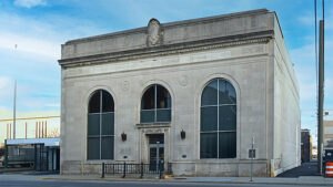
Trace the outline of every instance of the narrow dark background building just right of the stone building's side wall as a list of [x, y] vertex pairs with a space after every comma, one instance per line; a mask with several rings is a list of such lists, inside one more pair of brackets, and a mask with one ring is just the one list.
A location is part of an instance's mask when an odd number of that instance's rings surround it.
[[301, 160], [309, 163], [312, 159], [312, 137], [310, 129], [301, 129]]

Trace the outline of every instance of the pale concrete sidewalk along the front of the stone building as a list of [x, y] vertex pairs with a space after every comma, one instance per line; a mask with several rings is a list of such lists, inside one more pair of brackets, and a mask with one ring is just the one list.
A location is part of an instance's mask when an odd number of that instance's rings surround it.
[[150, 178], [128, 177], [121, 178], [120, 176], [101, 178], [93, 175], [52, 175], [40, 177], [39, 179], [51, 180], [100, 180], [100, 181], [157, 181], [157, 183], [221, 183], [221, 184], [274, 184], [274, 185], [300, 185], [300, 186], [333, 186], [333, 178], [324, 178], [321, 176], [306, 176], [299, 178], [264, 178], [255, 177], [250, 181], [249, 177], [174, 177], [169, 179], [159, 179], [158, 176]]

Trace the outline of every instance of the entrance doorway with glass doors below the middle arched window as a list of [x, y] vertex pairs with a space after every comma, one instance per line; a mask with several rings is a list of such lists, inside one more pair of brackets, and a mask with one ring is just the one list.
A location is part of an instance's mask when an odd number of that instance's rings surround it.
[[149, 135], [149, 169], [151, 172], [163, 170], [164, 165], [164, 135]]

